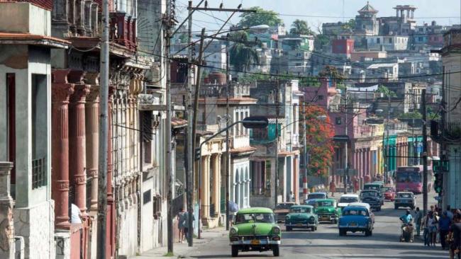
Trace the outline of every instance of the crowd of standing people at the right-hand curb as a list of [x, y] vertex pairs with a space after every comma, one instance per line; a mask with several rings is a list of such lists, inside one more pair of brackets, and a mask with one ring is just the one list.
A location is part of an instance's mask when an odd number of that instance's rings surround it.
[[421, 235], [423, 229], [424, 246], [435, 246], [438, 240], [443, 250], [450, 250], [450, 258], [461, 258], [461, 212], [457, 209], [452, 212], [450, 206], [443, 211], [437, 205], [431, 206], [426, 215], [416, 208], [414, 222], [416, 236]]

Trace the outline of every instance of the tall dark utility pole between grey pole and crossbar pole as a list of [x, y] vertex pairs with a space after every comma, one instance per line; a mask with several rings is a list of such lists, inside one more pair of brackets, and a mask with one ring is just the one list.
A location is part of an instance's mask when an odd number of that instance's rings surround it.
[[168, 193], [167, 193], [167, 251], [168, 253], [173, 253], [173, 174], [172, 174], [172, 143], [171, 143], [171, 113], [172, 113], [172, 103], [171, 103], [171, 60], [170, 60], [170, 44], [171, 44], [171, 28], [174, 24], [174, 16], [172, 13], [174, 12], [173, 8], [173, 1], [167, 1], [167, 15], [165, 17], [165, 24], [166, 24], [166, 33], [165, 33], [165, 61], [167, 65], [165, 69], [167, 69], [167, 88], [165, 89], [166, 95], [166, 113], [167, 113], [167, 120], [166, 120], [166, 138], [165, 142], [167, 143], [167, 156], [165, 157], [165, 172], [167, 173], [167, 183], [168, 183]]

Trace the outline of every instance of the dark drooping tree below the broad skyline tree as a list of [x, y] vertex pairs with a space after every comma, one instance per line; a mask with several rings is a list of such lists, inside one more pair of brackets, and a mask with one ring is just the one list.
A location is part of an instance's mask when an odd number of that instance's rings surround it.
[[258, 64], [260, 62], [260, 56], [254, 47], [245, 45], [248, 41], [248, 34], [244, 31], [238, 31], [230, 34], [230, 40], [234, 40], [235, 43], [230, 47], [229, 50], [229, 62], [238, 71], [247, 71], [248, 67], [252, 64]]

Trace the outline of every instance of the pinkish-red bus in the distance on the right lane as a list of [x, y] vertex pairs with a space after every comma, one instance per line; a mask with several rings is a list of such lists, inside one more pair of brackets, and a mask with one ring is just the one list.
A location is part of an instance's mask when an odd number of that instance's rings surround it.
[[[429, 175], [428, 172], [428, 183], [431, 183]], [[423, 166], [399, 166], [395, 174], [395, 185], [397, 192], [422, 193]]]

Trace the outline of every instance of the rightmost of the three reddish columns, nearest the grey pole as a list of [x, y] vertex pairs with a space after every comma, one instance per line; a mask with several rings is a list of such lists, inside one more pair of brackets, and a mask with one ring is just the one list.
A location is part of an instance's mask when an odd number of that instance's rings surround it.
[[[97, 76], [97, 74], [95, 75]], [[96, 79], [97, 80], [97, 79]], [[94, 81], [85, 103], [85, 127], [87, 144], [87, 177], [91, 178], [90, 211], [98, 210], [99, 166], [99, 86]]]

